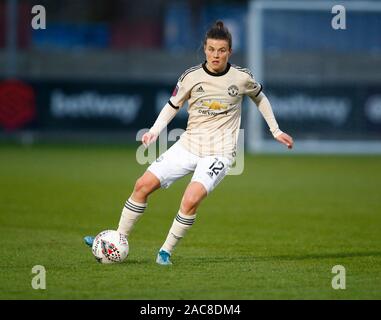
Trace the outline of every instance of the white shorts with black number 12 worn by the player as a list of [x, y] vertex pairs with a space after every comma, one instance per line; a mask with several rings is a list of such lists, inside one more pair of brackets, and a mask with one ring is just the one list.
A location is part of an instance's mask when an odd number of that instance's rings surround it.
[[226, 176], [231, 160], [222, 156], [199, 157], [186, 150], [178, 141], [147, 170], [159, 180], [162, 188], [168, 188], [177, 179], [194, 172], [192, 181], [200, 182], [210, 193]]

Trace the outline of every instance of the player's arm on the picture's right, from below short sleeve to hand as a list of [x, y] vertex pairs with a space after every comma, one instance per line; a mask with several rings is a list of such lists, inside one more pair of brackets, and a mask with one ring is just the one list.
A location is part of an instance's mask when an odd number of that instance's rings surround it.
[[270, 131], [273, 137], [278, 140], [280, 143], [283, 143], [287, 148], [292, 149], [294, 145], [294, 140], [290, 135], [281, 131], [279, 125], [275, 119], [273, 109], [271, 107], [269, 99], [263, 92], [260, 92], [256, 96], [251, 96], [252, 100], [258, 107], [258, 110], [261, 112], [263, 118], [265, 119], [267, 125], [270, 128]]

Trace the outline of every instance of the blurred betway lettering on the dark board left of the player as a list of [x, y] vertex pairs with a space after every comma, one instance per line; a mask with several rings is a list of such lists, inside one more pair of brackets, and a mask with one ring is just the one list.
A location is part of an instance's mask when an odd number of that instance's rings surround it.
[[68, 95], [56, 90], [51, 96], [50, 109], [57, 118], [111, 117], [124, 123], [130, 123], [135, 120], [141, 104], [139, 96], [100, 95], [89, 91]]

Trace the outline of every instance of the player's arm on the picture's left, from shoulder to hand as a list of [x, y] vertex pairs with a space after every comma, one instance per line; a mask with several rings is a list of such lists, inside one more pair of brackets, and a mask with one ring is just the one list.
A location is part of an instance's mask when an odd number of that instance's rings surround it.
[[179, 78], [171, 98], [161, 110], [153, 126], [143, 135], [142, 143], [144, 146], [147, 147], [156, 141], [160, 132], [172, 121], [184, 102], [189, 99], [192, 87], [188, 81], [189, 77], [186, 78], [184, 74]]

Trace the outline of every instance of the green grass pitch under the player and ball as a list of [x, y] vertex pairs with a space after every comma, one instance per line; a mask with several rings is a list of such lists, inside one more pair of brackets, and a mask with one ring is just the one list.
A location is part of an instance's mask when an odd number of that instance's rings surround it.
[[0, 299], [381, 299], [381, 157], [246, 155], [159, 266], [186, 177], [151, 196], [124, 263], [98, 264], [82, 237], [116, 228], [144, 170], [133, 148], [1, 145]]

